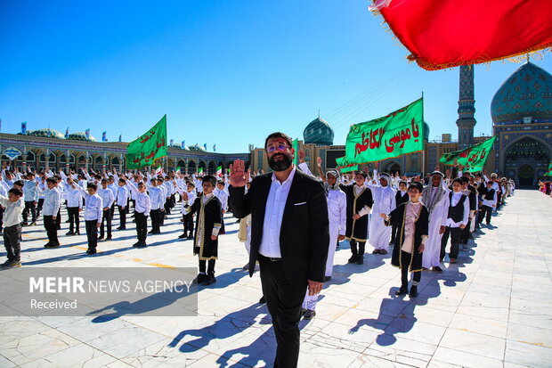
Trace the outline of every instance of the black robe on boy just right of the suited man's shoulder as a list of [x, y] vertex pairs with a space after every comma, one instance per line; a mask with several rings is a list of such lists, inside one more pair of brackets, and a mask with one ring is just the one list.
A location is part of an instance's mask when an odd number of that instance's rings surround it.
[[348, 241], [367, 241], [369, 214], [364, 215], [358, 220], [353, 220], [353, 215], [358, 213], [364, 206], [372, 208], [374, 205], [372, 191], [365, 186], [361, 194], [357, 196], [354, 192], [355, 185], [339, 185], [339, 187], [347, 196], [347, 228], [345, 238]]

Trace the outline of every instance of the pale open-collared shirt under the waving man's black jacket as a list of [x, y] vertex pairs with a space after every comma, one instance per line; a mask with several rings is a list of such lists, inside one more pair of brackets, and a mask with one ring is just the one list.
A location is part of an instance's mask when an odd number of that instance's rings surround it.
[[259, 253], [264, 257], [281, 258], [281, 219], [284, 216], [289, 188], [291, 188], [295, 175], [296, 168], [294, 167], [289, 173], [288, 179], [280, 184], [276, 175], [272, 173], [271, 190], [268, 192], [264, 211], [263, 240], [259, 248]]

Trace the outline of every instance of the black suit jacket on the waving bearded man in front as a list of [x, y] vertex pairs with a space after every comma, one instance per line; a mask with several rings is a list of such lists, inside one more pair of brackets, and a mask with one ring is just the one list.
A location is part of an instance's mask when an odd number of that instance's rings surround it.
[[[272, 173], [256, 176], [245, 188], [229, 187], [234, 216], [251, 214], [249, 275], [253, 275], [263, 240], [264, 211]], [[296, 169], [289, 188], [280, 229], [280, 252], [288, 282], [324, 282], [329, 249], [328, 202], [322, 182]]]

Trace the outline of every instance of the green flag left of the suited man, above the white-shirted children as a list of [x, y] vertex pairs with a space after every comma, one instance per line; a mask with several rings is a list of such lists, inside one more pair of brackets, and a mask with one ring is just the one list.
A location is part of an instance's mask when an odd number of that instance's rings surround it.
[[126, 168], [153, 165], [155, 159], [166, 156], [166, 115], [126, 147]]

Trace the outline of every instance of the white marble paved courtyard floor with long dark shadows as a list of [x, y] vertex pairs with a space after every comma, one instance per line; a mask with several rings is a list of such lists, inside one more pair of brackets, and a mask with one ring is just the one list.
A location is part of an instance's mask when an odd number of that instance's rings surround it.
[[[397, 269], [369, 254], [348, 265], [348, 244], [336, 253], [334, 277], [316, 317], [302, 321], [300, 367], [548, 367], [552, 361], [552, 199], [518, 190], [492, 226], [477, 233], [459, 264], [424, 272], [418, 298], [397, 298]], [[114, 221], [118, 225], [118, 220]], [[42, 225], [42, 222], [39, 222]], [[199, 287], [199, 315], [0, 317], [0, 367], [263, 367], [275, 339], [258, 273], [249, 278], [238, 225], [226, 218], [217, 282]], [[134, 249], [134, 225], [84, 254], [85, 235], [61, 237], [44, 249], [42, 226], [23, 233], [24, 267], [196, 266], [191, 241], [181, 241], [177, 214], [150, 247]], [[114, 226], [115, 227], [115, 226]], [[67, 232], [63, 224], [61, 233]], [[84, 232], [84, 229], [82, 230]], [[120, 239], [118, 239], [120, 238]], [[1, 256], [4, 258], [5, 253]]]

